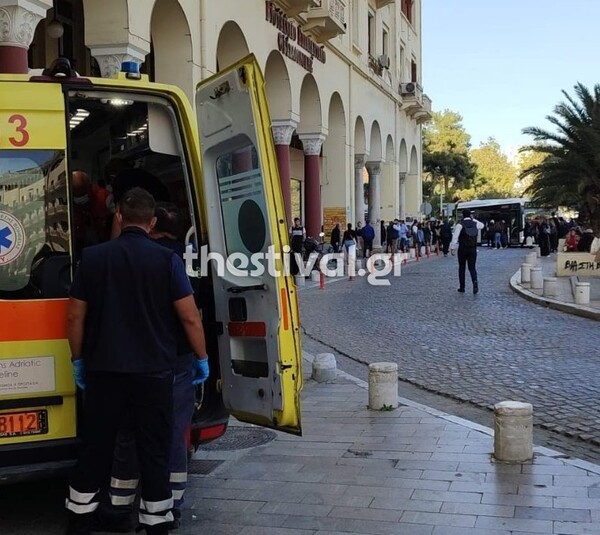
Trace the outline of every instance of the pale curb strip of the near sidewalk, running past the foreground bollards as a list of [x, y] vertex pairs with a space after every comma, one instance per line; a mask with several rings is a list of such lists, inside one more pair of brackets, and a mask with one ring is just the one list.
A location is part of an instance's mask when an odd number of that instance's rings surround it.
[[[303, 350], [302, 358], [306, 362], [312, 364], [312, 361], [314, 360], [315, 357], [311, 353], [307, 353], [306, 351]], [[344, 377], [346, 380], [354, 383], [359, 388], [362, 388], [364, 390], [369, 389], [369, 384], [366, 381], [359, 379], [358, 377], [354, 377], [353, 375], [350, 375], [349, 373], [346, 373], [339, 369], [337, 370], [337, 374], [341, 377]], [[410, 399], [398, 396], [398, 403], [400, 403], [401, 405], [405, 405], [407, 407], [412, 407], [414, 409], [423, 411], [431, 416], [440, 418], [442, 420], [446, 420], [453, 424], [461, 425], [472, 431], [478, 431], [480, 433], [483, 433], [483, 434], [491, 436], [491, 437], [494, 436], [494, 430], [490, 427], [486, 427], [484, 425], [481, 425], [481, 424], [478, 424], [475, 422], [471, 422], [470, 420], [465, 420], [464, 418], [460, 418], [459, 416], [453, 416], [452, 414], [442, 412], [438, 409], [434, 409], [433, 407], [428, 407], [427, 405], [417, 403], [416, 401], [412, 401]], [[535, 417], [535, 414], [534, 414], [534, 417]], [[567, 465], [575, 466], [576, 468], [581, 468], [582, 470], [587, 470], [588, 472], [591, 472], [593, 474], [600, 475], [600, 465], [598, 465], [598, 464], [594, 464], [589, 461], [584, 461], [583, 459], [576, 459], [576, 458], [565, 459], [564, 453], [561, 453], [559, 451], [556, 451], [556, 450], [553, 450], [550, 448], [546, 448], [545, 446], [535, 446], [534, 445], [533, 451], [535, 454], [540, 455], [542, 457], [550, 457], [553, 459], [557, 459]], [[535, 464], [535, 456], [534, 456], [532, 462]], [[530, 464], [530, 463], [524, 463], [524, 464]]]

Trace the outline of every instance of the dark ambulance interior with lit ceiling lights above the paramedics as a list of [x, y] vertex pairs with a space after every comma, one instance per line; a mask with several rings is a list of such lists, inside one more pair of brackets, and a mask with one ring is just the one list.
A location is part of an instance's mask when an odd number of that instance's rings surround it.
[[[115, 237], [115, 207], [136, 186], [179, 208], [184, 225], [176, 239], [183, 244], [190, 229], [197, 228], [195, 192], [170, 101], [138, 93], [72, 91], [68, 112], [70, 170], [85, 173], [89, 188], [87, 201], [74, 208], [76, 256], [83, 247]], [[75, 178], [73, 174], [74, 200], [83, 193]], [[77, 211], [87, 212], [87, 218], [78, 217]]]

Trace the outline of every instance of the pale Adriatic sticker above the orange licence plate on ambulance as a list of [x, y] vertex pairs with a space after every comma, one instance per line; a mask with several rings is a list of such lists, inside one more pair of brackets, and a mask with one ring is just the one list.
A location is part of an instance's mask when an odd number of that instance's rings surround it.
[[0, 360], [0, 394], [34, 394], [55, 388], [54, 357]]

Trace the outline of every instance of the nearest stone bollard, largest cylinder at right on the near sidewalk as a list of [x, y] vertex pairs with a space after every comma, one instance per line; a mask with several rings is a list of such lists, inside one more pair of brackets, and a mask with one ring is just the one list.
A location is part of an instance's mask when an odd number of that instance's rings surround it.
[[533, 458], [533, 406], [519, 401], [494, 405], [494, 457], [522, 463]]

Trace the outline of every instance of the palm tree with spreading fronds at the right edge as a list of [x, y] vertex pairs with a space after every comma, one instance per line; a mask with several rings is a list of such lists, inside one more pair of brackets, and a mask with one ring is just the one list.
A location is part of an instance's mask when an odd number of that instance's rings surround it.
[[531, 176], [526, 193], [542, 206], [578, 208], [580, 218], [600, 230], [600, 85], [590, 92], [583, 84], [574, 87], [576, 98], [563, 91], [567, 102], [554, 108], [546, 119], [556, 132], [527, 127], [523, 133], [535, 143], [521, 151], [542, 154], [541, 163], [524, 169]]

